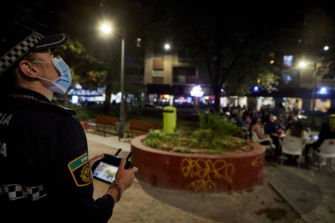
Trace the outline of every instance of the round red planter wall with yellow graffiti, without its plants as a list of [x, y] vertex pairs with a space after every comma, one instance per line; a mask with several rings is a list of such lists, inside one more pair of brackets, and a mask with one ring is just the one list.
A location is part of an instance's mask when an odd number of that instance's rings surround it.
[[[264, 175], [264, 146], [247, 141], [249, 152], [198, 155], [168, 152], [145, 146], [141, 135], [131, 140], [136, 177], [153, 186], [205, 193], [240, 191], [259, 184]], [[244, 140], [241, 138], [236, 138]]]

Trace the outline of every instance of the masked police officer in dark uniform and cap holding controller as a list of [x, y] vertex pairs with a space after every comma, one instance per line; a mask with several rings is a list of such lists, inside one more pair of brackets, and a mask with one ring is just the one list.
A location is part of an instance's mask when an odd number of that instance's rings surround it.
[[118, 180], [94, 201], [90, 166], [103, 154], [88, 160], [76, 112], [51, 103], [71, 85], [69, 67], [51, 53], [67, 34], [44, 37], [16, 22], [1, 29], [1, 221], [107, 222], [137, 168], [124, 170], [123, 158]]

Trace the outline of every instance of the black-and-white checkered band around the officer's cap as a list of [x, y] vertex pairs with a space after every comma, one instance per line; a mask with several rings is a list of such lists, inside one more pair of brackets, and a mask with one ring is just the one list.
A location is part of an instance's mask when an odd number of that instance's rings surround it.
[[26, 52], [31, 50], [37, 43], [41, 41], [43, 35], [38, 32], [32, 32], [28, 38], [24, 39], [18, 45], [14, 46], [11, 50], [5, 53], [0, 58], [0, 75], [7, 70], [12, 64], [22, 57]]

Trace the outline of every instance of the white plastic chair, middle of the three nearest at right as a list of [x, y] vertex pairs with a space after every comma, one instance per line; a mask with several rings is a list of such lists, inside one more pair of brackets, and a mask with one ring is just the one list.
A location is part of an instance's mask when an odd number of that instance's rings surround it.
[[[304, 140], [300, 137], [286, 135], [282, 141], [279, 140], [279, 143], [281, 145], [281, 156], [283, 156], [283, 153], [299, 155], [298, 168], [300, 168], [301, 155], [305, 147]], [[283, 159], [281, 159], [280, 164], [283, 165]]]

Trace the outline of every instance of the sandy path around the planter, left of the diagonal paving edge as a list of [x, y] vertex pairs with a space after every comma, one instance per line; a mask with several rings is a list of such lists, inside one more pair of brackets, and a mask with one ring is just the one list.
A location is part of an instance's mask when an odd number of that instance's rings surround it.
[[[88, 132], [89, 158], [101, 154], [126, 156], [130, 139], [119, 143], [115, 136]], [[115, 205], [109, 222], [304, 222], [291, 206], [269, 185], [220, 194], [195, 194], [153, 187], [136, 180]], [[95, 199], [106, 193], [108, 184], [94, 180]]]

